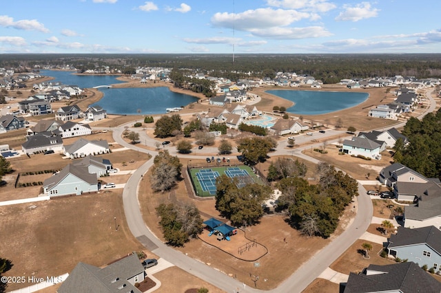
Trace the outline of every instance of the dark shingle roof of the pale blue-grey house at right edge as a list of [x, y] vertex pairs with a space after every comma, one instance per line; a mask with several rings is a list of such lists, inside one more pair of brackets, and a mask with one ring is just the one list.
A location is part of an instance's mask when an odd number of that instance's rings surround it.
[[403, 228], [398, 226], [397, 234], [391, 235], [387, 248], [412, 246], [427, 243], [433, 250], [441, 254], [441, 230], [434, 226], [422, 228]]

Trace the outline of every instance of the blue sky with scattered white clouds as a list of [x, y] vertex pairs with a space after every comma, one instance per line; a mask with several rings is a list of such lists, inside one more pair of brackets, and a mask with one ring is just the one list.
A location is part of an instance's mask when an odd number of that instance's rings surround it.
[[5, 0], [0, 54], [441, 53], [440, 11], [440, 0]]

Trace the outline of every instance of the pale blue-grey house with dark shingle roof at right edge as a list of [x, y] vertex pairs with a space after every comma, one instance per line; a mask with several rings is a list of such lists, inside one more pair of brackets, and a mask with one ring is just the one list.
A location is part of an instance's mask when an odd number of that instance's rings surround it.
[[427, 265], [436, 272], [441, 270], [441, 230], [434, 226], [409, 229], [398, 226], [387, 243], [389, 257]]

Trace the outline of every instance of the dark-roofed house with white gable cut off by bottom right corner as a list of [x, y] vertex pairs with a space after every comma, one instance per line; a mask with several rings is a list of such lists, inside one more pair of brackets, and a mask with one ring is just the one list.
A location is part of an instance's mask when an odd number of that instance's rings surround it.
[[351, 272], [343, 285], [344, 293], [441, 292], [441, 283], [413, 261], [391, 265], [371, 264], [359, 274]]

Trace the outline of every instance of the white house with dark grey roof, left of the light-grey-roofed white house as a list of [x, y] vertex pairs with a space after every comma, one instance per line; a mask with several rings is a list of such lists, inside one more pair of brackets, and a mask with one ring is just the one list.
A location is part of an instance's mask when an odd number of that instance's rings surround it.
[[26, 141], [21, 144], [21, 150], [25, 154], [37, 153], [40, 151], [54, 151], [63, 153], [63, 138], [51, 132], [41, 132], [36, 135], [27, 136]]

